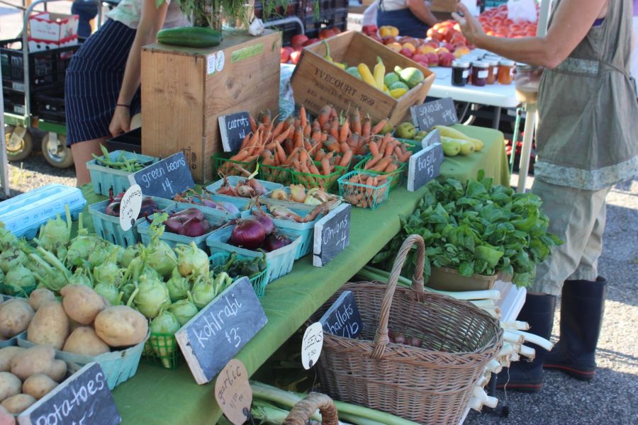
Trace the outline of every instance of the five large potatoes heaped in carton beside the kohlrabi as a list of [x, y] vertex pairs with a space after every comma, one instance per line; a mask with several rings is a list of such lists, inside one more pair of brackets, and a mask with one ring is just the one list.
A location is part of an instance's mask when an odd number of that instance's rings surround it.
[[67, 285], [60, 295], [62, 302], [47, 289], [31, 293], [28, 305], [35, 314], [27, 327], [28, 341], [69, 353], [98, 356], [111, 348], [140, 344], [146, 338], [148, 322], [137, 310], [125, 305], [111, 306], [86, 285]]

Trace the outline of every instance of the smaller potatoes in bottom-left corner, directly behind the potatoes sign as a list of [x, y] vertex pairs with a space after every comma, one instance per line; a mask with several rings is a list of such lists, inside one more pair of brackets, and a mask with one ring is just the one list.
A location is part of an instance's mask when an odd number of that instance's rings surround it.
[[[49, 346], [0, 349], [0, 424], [28, 409], [65, 379], [67, 363]], [[11, 418], [11, 419], [10, 419]]]

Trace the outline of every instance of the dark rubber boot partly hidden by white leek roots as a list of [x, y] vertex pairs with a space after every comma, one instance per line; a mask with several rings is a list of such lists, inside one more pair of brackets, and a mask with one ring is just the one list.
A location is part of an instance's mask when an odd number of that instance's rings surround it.
[[[529, 332], [549, 339], [554, 324], [554, 309], [556, 297], [554, 295], [527, 294], [517, 320], [530, 324]], [[539, 392], [543, 387], [543, 362], [548, 351], [536, 344], [525, 344], [534, 348], [536, 356], [533, 361], [521, 358], [511, 363], [510, 368], [503, 370], [496, 377], [496, 387], [520, 392]]]

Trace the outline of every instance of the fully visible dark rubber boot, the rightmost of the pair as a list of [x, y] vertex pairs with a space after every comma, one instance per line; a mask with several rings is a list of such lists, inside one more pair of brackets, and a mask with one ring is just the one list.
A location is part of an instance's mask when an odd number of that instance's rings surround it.
[[595, 351], [605, 312], [607, 280], [566, 280], [561, 297], [561, 335], [544, 367], [579, 380], [595, 375]]

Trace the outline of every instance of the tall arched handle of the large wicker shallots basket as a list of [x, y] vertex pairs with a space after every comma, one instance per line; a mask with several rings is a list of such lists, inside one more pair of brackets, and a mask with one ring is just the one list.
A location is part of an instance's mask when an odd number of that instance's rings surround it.
[[410, 234], [410, 236], [405, 238], [398, 254], [396, 254], [390, 278], [388, 278], [388, 287], [386, 288], [384, 301], [381, 303], [379, 327], [376, 328], [376, 343], [374, 344], [374, 351], [372, 352], [374, 358], [381, 358], [384, 351], [386, 351], [386, 346], [390, 342], [390, 339], [388, 339], [388, 319], [390, 317], [390, 307], [392, 307], [392, 297], [394, 296], [396, 283], [401, 274], [401, 268], [403, 268], [403, 263], [405, 263], [405, 257], [408, 256], [408, 252], [412, 249], [413, 244], [417, 246], [417, 263], [412, 276], [412, 289], [415, 291], [417, 300], [422, 301], [425, 299], [425, 289], [423, 288], [425, 242], [423, 242], [423, 238], [419, 234]]

